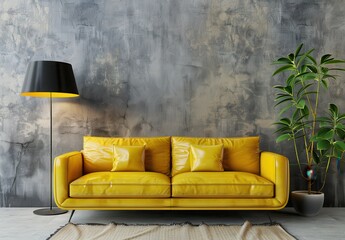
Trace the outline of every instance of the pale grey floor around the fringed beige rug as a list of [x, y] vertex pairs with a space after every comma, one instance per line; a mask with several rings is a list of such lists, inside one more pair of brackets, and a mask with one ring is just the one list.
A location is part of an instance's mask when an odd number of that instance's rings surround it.
[[[70, 214], [37, 216], [34, 208], [0, 208], [0, 239], [47, 239], [64, 226]], [[324, 208], [317, 217], [281, 211], [76, 211], [73, 223], [170, 224], [280, 223], [297, 239], [345, 239], [345, 208]]]

